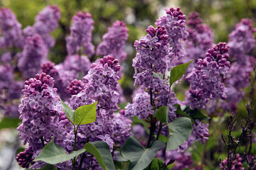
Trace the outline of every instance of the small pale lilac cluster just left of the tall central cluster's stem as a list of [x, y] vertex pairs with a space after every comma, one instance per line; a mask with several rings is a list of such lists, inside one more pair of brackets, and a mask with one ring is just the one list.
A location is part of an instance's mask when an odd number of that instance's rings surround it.
[[137, 115], [139, 119], [146, 119], [149, 114], [154, 114], [153, 108], [150, 104], [150, 96], [146, 92], [137, 94], [132, 98], [132, 104], [128, 103], [125, 108], [125, 115], [127, 117]]

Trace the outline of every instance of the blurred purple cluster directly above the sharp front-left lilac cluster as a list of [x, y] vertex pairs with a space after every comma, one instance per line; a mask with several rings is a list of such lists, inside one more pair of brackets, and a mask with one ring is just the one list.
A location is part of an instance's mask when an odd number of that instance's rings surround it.
[[26, 38], [23, 51], [18, 53], [18, 69], [26, 79], [40, 72], [43, 62], [46, 62], [48, 49], [40, 35]]

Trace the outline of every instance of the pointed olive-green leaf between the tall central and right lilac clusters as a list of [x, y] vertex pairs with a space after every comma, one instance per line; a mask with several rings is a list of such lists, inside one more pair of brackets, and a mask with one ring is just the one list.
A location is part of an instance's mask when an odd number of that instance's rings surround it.
[[171, 75], [170, 75], [170, 86], [173, 84], [175, 81], [181, 79], [181, 77], [185, 74], [186, 69], [188, 68], [188, 65], [191, 64], [193, 60], [190, 62], [187, 62], [185, 64], [180, 64], [171, 69]]

